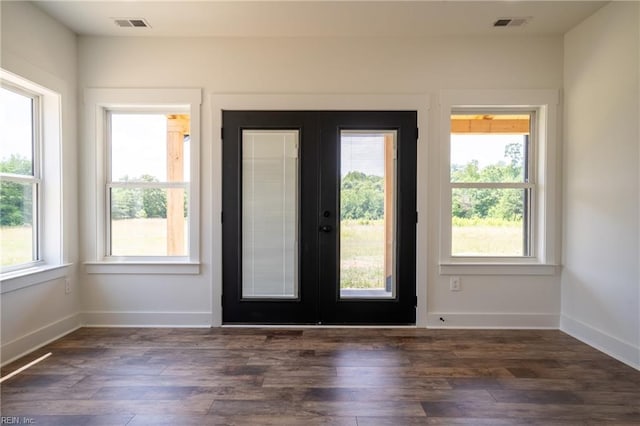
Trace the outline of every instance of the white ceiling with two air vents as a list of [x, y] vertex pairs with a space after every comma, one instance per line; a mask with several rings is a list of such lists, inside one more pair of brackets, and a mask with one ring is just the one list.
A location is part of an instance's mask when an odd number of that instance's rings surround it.
[[[602, 1], [35, 1], [74, 32], [100, 36], [305, 37], [558, 35]], [[494, 28], [504, 17], [528, 24]], [[152, 28], [120, 28], [144, 18]]]

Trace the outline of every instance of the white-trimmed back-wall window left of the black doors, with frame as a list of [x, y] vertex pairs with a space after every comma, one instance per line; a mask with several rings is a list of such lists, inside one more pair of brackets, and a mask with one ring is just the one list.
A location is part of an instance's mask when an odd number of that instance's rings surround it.
[[199, 89], [87, 90], [97, 206], [89, 273], [198, 273], [200, 102]]

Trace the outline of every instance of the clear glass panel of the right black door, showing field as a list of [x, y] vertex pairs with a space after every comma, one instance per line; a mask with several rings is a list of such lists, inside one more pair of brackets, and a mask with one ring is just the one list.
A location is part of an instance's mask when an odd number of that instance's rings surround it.
[[340, 135], [340, 298], [394, 298], [395, 131]]

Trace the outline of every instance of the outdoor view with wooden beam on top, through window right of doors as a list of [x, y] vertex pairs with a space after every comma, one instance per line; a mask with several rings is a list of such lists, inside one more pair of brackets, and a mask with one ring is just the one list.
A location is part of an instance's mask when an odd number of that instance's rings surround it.
[[530, 256], [531, 114], [451, 117], [451, 255]]

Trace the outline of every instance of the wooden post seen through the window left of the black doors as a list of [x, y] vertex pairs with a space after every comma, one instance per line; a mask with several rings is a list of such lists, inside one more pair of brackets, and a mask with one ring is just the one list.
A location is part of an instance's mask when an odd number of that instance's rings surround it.
[[[167, 182], [184, 182], [184, 136], [188, 115], [167, 116]], [[167, 189], [167, 255], [184, 256], [184, 189]]]

